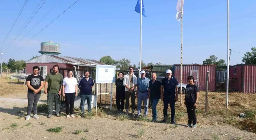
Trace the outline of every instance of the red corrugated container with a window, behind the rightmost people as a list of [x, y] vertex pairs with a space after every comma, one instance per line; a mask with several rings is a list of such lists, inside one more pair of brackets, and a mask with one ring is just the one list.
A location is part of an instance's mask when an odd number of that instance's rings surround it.
[[[173, 65], [173, 76], [181, 82], [180, 65]], [[209, 71], [209, 91], [216, 91], [216, 65], [183, 65], [183, 83], [188, 84], [187, 77], [192, 75], [195, 78], [195, 84], [200, 91], [205, 91], [206, 73]]]

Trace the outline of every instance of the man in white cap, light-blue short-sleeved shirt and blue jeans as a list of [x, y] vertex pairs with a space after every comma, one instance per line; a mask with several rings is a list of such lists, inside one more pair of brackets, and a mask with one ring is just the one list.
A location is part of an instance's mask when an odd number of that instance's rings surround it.
[[148, 98], [149, 98], [149, 79], [145, 77], [145, 71], [142, 70], [140, 72], [141, 78], [137, 81], [137, 94], [136, 97], [138, 98], [138, 116], [140, 116], [141, 112], [141, 103], [142, 100], [144, 101], [144, 116], [148, 114]]

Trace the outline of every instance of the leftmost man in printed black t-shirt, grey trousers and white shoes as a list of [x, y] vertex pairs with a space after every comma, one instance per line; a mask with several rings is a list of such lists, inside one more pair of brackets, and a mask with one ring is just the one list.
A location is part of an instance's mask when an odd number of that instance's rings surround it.
[[26, 120], [30, 119], [31, 111], [33, 110], [33, 118], [39, 119], [37, 115], [37, 102], [41, 96], [41, 89], [44, 86], [44, 78], [38, 75], [39, 67], [33, 67], [33, 74], [27, 77], [27, 87], [28, 87], [28, 107], [27, 107], [27, 117]]

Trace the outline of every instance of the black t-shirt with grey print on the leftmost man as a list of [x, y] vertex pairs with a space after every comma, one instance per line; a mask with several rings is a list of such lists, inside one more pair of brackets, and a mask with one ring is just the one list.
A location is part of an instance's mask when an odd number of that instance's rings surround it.
[[[31, 74], [27, 77], [26, 81], [30, 81], [30, 85], [34, 89], [39, 89], [39, 87], [41, 86], [41, 81], [44, 81], [44, 78], [41, 75], [34, 76], [33, 74]], [[28, 93], [34, 93], [34, 91], [28, 88]], [[41, 94], [41, 91], [39, 91], [37, 94]]]

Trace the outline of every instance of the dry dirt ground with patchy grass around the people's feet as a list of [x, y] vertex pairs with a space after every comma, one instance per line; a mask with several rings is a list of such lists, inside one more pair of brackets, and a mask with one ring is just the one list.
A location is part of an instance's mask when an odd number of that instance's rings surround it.
[[[106, 109], [98, 111], [89, 119], [79, 117], [66, 118], [65, 110], [61, 117], [46, 117], [45, 112], [38, 112], [40, 119], [25, 120], [27, 106], [27, 87], [10, 85], [6, 80], [0, 80], [0, 137], [2, 140], [27, 139], [77, 139], [77, 140], [133, 140], [133, 139], [162, 139], [162, 140], [255, 140], [256, 134], [238, 129], [235, 125], [243, 120], [237, 113], [255, 110], [255, 95], [230, 94], [230, 109], [225, 109], [224, 93], [209, 93], [210, 115], [204, 117], [205, 96], [200, 92], [200, 103], [197, 110], [198, 127], [184, 127], [187, 116], [184, 107], [176, 105], [176, 125], [167, 123], [152, 123], [152, 111], [149, 109], [148, 120], [131, 118], [122, 119], [114, 111]], [[47, 95], [42, 94], [40, 104], [46, 102]], [[163, 118], [162, 102], [158, 109], [159, 121]], [[95, 109], [92, 110], [95, 112]], [[170, 111], [170, 110], [169, 110]], [[252, 115], [251, 115], [252, 116]], [[253, 116], [252, 116], [253, 117]], [[120, 119], [121, 118], [121, 119]], [[254, 118], [255, 119], [255, 118]], [[14, 125], [17, 123], [17, 126]], [[47, 129], [63, 127], [60, 133], [48, 132]], [[82, 130], [75, 134], [76, 130]], [[88, 131], [88, 132], [87, 132]]]

